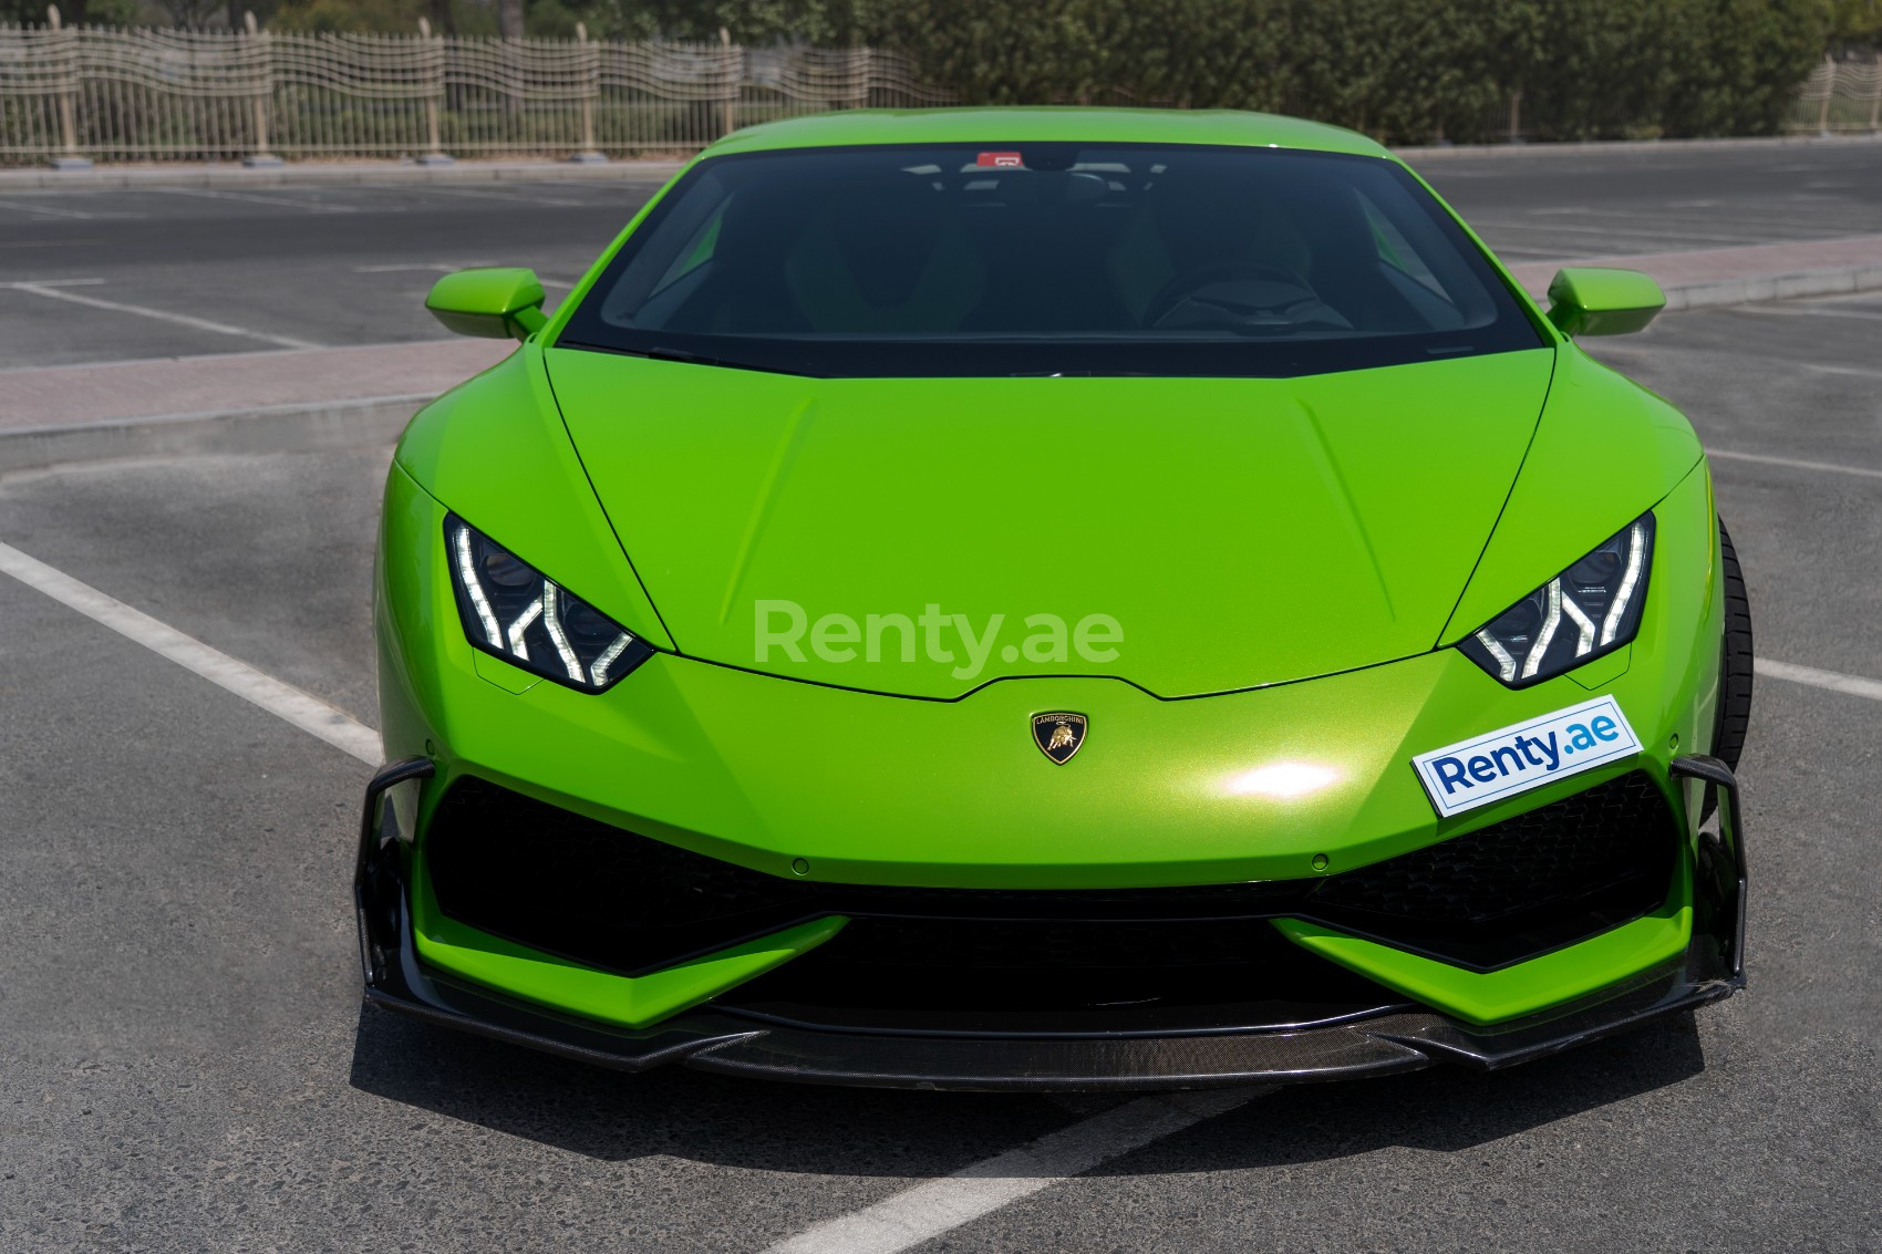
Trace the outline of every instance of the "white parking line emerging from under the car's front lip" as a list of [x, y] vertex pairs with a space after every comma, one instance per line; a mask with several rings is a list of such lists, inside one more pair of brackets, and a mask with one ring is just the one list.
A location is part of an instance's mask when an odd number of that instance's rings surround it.
[[1060, 1181], [1214, 1118], [1267, 1088], [1139, 1098], [873, 1207], [817, 1224], [766, 1254], [894, 1254], [969, 1224]]

